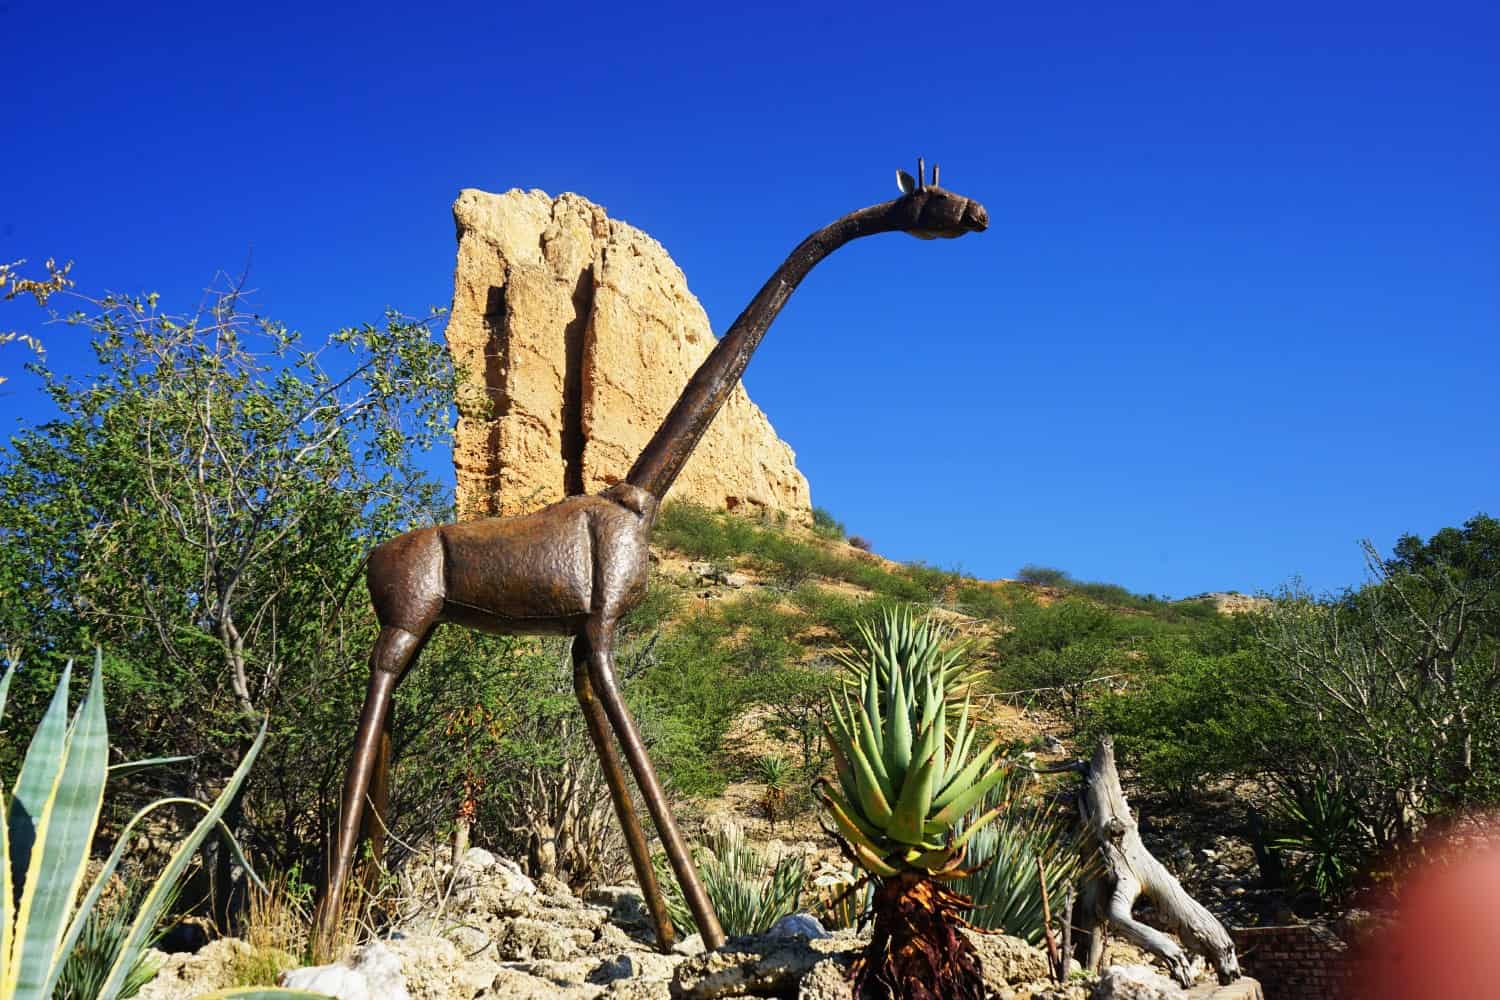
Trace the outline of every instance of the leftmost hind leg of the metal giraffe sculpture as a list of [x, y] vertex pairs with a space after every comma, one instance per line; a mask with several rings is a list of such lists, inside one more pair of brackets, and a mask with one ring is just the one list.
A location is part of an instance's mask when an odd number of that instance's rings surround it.
[[405, 628], [387, 625], [380, 630], [380, 637], [370, 651], [370, 682], [364, 691], [364, 708], [360, 711], [354, 756], [344, 780], [334, 853], [328, 864], [322, 903], [314, 919], [314, 940], [324, 952], [332, 945], [333, 931], [342, 916], [344, 889], [354, 867], [354, 852], [358, 847], [363, 828], [364, 796], [370, 789], [376, 765], [381, 763], [381, 744], [390, 718], [390, 699], [424, 640], [424, 634], [418, 636]]

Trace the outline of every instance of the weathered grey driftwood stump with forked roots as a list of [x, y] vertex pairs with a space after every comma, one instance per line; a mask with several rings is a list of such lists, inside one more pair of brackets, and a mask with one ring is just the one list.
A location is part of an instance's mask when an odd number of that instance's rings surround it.
[[1089, 934], [1088, 967], [1098, 970], [1104, 952], [1101, 931], [1108, 922], [1128, 940], [1167, 963], [1173, 978], [1184, 987], [1191, 984], [1188, 954], [1156, 928], [1131, 916], [1136, 900], [1144, 895], [1182, 943], [1214, 964], [1221, 984], [1239, 979], [1239, 961], [1228, 931], [1142, 844], [1136, 817], [1120, 789], [1119, 771], [1114, 769], [1114, 744], [1108, 736], [1100, 741], [1084, 772], [1078, 811], [1084, 828], [1100, 846], [1106, 867], [1101, 879], [1084, 886], [1078, 907]]

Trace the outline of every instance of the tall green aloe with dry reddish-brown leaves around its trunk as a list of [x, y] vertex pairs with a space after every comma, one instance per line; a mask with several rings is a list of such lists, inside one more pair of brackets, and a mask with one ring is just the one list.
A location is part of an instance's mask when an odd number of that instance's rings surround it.
[[1006, 763], [998, 739], [975, 750], [969, 697], [952, 699], [972, 675], [942, 640], [930, 621], [885, 615], [864, 631], [866, 649], [844, 658], [852, 684], [831, 699], [838, 787], [820, 781], [818, 795], [876, 885], [874, 936], [854, 973], [862, 997], [984, 997], [978, 954], [960, 933], [970, 901], [948, 883], [970, 874], [968, 841], [1005, 808], [958, 832]]

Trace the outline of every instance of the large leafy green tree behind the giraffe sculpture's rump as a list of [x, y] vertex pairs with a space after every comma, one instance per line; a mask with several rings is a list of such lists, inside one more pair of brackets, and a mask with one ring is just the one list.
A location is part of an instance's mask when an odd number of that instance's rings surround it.
[[[272, 753], [230, 819], [272, 865], [314, 864], [374, 639], [340, 594], [372, 541], [447, 514], [418, 463], [450, 424], [435, 318], [318, 343], [237, 288], [192, 315], [156, 295], [74, 301], [98, 364], [34, 366], [57, 415], [0, 448], [0, 646], [24, 643], [42, 681], [15, 693], [16, 717], [34, 724], [70, 654], [111, 651], [116, 748], [198, 762], [122, 787], [117, 823], [226, 778], [268, 715]], [[440, 636], [426, 658], [453, 648]], [[430, 702], [423, 684], [400, 699]], [[16, 754], [0, 739], [0, 768]]]

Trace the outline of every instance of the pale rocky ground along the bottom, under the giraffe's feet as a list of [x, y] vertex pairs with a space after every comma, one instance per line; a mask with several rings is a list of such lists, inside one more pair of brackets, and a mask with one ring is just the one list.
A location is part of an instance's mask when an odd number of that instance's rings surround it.
[[[406, 907], [393, 931], [344, 963], [298, 969], [282, 984], [344, 1000], [852, 1000], [849, 966], [867, 940], [855, 931], [828, 933], [798, 915], [716, 952], [705, 954], [694, 936], [660, 954], [634, 888], [603, 888], [579, 900], [564, 885], [536, 883], [513, 862], [480, 849], [468, 852], [456, 876], [447, 864], [429, 861], [408, 865], [402, 880], [408, 894], [444, 889]], [[1179, 990], [1128, 946], [1113, 946], [1104, 976], [1074, 972], [1056, 984], [1041, 949], [999, 934], [970, 934], [970, 940], [998, 999], [1214, 994], [1212, 987]], [[220, 939], [195, 954], [162, 955], [160, 973], [140, 997], [188, 1000], [234, 985], [250, 951], [242, 940]], [[1226, 996], [1258, 991], [1246, 985]]]

